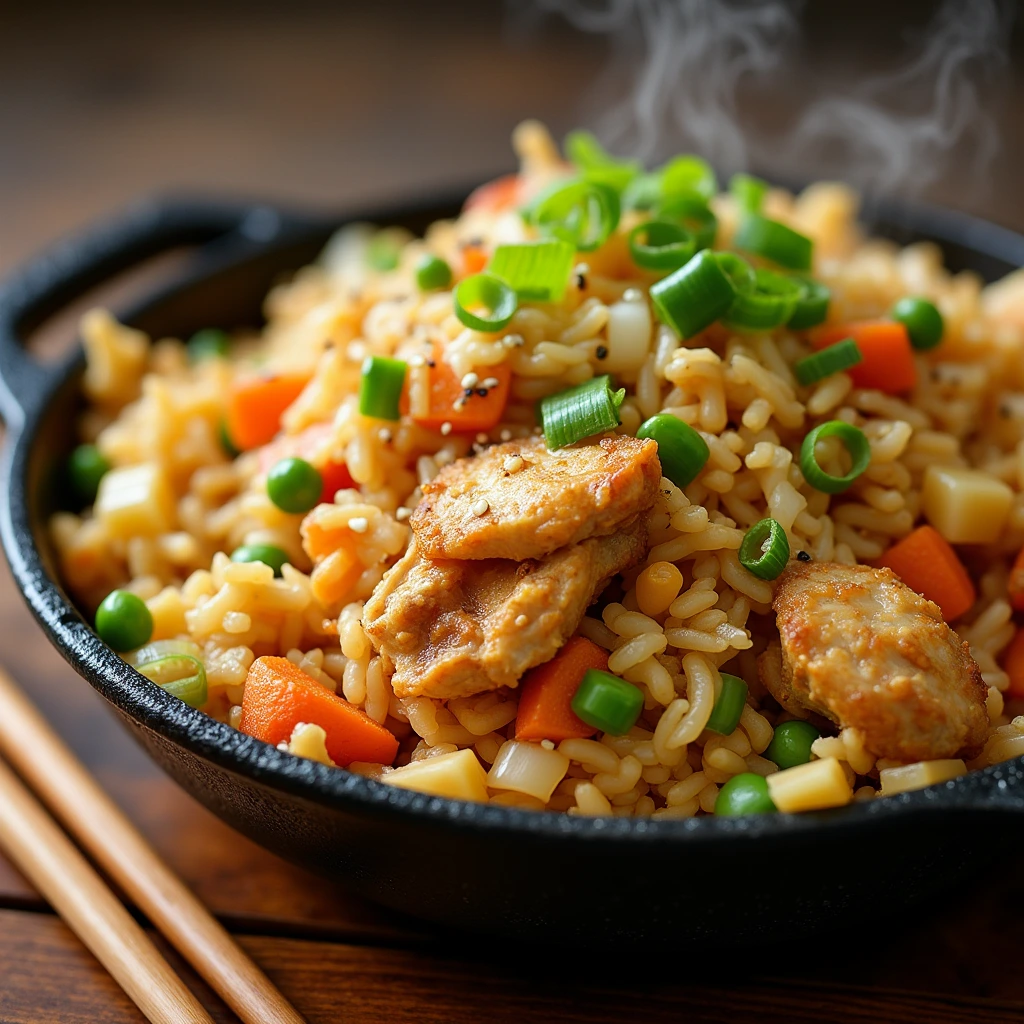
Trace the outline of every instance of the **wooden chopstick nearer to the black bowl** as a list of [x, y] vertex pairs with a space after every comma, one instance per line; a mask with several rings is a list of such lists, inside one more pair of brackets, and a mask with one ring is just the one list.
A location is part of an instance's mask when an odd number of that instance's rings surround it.
[[2, 669], [0, 754], [245, 1024], [305, 1024]]

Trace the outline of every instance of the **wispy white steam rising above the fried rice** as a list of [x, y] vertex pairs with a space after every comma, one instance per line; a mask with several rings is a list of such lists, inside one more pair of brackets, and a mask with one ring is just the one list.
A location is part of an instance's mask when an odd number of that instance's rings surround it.
[[[522, 0], [509, 0], [511, 9]], [[527, 5], [528, 6], [528, 5]], [[816, 97], [788, 125], [743, 118], [744, 90], [778, 86], [800, 46], [803, 0], [532, 0], [608, 39], [592, 127], [616, 153], [652, 162], [680, 150], [721, 171], [843, 177], [876, 194], [912, 191], [947, 159], [984, 183], [998, 133], [984, 85], [1008, 65], [1012, 0], [944, 0], [902, 66]], [[630, 83], [624, 88], [624, 78]], [[786, 104], [791, 105], [791, 104]]]

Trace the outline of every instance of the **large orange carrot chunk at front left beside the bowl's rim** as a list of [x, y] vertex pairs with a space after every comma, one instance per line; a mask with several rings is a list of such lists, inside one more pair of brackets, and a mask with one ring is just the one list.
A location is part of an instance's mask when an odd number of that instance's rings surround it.
[[327, 733], [327, 752], [342, 767], [352, 761], [389, 765], [398, 753], [398, 740], [384, 726], [287, 657], [256, 658], [246, 677], [241, 730], [276, 745], [288, 742], [300, 722]]

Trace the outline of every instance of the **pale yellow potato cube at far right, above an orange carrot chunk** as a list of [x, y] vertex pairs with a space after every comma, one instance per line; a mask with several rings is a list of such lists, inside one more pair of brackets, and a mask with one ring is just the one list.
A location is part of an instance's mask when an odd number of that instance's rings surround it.
[[925, 471], [925, 515], [950, 544], [997, 541], [1013, 500], [1006, 483], [977, 469], [929, 466]]

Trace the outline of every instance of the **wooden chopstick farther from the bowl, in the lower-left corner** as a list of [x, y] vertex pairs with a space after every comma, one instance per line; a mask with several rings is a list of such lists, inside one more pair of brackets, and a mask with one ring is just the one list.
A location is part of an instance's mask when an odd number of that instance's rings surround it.
[[2, 761], [0, 848], [154, 1024], [213, 1024], [135, 919]]

